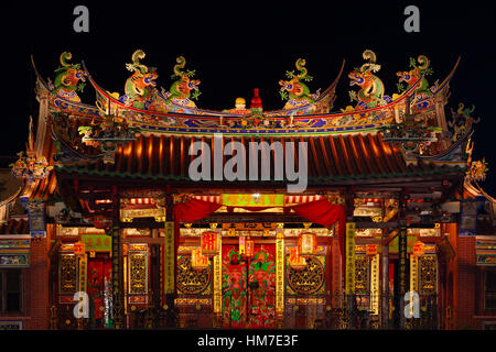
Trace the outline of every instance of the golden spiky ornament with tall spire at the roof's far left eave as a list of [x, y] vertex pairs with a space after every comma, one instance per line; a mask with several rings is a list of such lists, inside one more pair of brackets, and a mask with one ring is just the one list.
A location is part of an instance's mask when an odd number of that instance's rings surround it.
[[37, 156], [34, 151], [33, 141], [33, 119], [30, 117], [29, 138], [26, 145], [26, 155], [23, 152], [18, 153], [19, 160], [10, 164], [12, 174], [17, 178], [28, 179], [28, 183], [33, 183], [36, 179], [43, 179], [48, 176], [53, 166], [48, 166], [48, 162], [44, 156]]

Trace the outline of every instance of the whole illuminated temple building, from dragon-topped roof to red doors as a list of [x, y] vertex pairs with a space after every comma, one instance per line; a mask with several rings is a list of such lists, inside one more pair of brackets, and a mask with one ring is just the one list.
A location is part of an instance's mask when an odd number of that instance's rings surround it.
[[[24, 184], [2, 206], [23, 205], [29, 233], [0, 235], [0, 267], [21, 271], [20, 300], [39, 308], [1, 311], [0, 321], [26, 329], [495, 323], [495, 202], [477, 184], [485, 164], [471, 157], [477, 121], [463, 105], [445, 117], [457, 63], [430, 86], [421, 55], [388, 96], [375, 53], [365, 51], [365, 64], [347, 75], [357, 87], [353, 106], [333, 112], [345, 64], [327, 89], [311, 94], [299, 59], [279, 82], [281, 110], [265, 111], [256, 90], [249, 108], [238, 98], [213, 111], [196, 106], [201, 80], [183, 57], [169, 90], [158, 89], [158, 69], [137, 51], [126, 65], [132, 76], [122, 96], [69, 64], [69, 53], [53, 84], [36, 72], [40, 114], [29, 152], [47, 163], [32, 165], [36, 177], [25, 162], [12, 166]], [[95, 105], [80, 102], [82, 81]], [[256, 154], [250, 143], [260, 146]], [[288, 189], [294, 178], [278, 174], [288, 175], [280, 164], [288, 145], [293, 166], [306, 166], [298, 193]], [[197, 164], [202, 179], [191, 175]], [[22, 265], [11, 260], [21, 254]], [[75, 316], [78, 292], [88, 295], [87, 318]], [[409, 292], [418, 306], [406, 307]]]

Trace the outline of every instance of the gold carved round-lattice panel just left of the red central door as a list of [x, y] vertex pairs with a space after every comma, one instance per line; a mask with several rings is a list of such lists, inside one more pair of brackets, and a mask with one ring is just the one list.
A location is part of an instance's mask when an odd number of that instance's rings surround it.
[[195, 270], [191, 265], [191, 256], [177, 257], [177, 289], [183, 294], [209, 294], [211, 266]]

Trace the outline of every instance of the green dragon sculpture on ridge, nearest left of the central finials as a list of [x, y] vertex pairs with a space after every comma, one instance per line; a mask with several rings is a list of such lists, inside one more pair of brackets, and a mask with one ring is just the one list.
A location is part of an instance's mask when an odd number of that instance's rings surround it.
[[[186, 59], [183, 56], [176, 58], [176, 65], [174, 65], [174, 74], [171, 78], [176, 79], [169, 91], [164, 92], [166, 103], [173, 103], [181, 107], [196, 108], [193, 100], [196, 100], [201, 95], [198, 79], [191, 79], [195, 75], [195, 70], [182, 69], [186, 65]], [[192, 92], [192, 90], [194, 90]]]

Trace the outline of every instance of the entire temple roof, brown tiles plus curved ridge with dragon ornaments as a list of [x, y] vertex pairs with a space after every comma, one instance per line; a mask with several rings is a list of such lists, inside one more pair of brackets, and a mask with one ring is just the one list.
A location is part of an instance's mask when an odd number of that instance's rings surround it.
[[[101, 88], [84, 64], [69, 64], [69, 53], [61, 55], [62, 66], [56, 70], [54, 82], [45, 81], [33, 62], [37, 97], [47, 103], [44, 142], [36, 142], [43, 144], [41, 154], [54, 172], [26, 184], [23, 196], [43, 198], [53, 195], [58, 191], [57, 183], [62, 185], [61, 177], [78, 178], [79, 175], [98, 179], [194, 184], [194, 187], [226, 185], [216, 180], [192, 183], [188, 177], [193, 160], [188, 155], [191, 144], [204, 141], [212, 148], [212, 141], [218, 135], [222, 135], [223, 146], [230, 141], [241, 142], [245, 147], [249, 142], [281, 142], [283, 145], [308, 142], [308, 179], [309, 186], [314, 187], [353, 185], [356, 182], [385, 185], [462, 174], [465, 136], [471, 132], [473, 119], [464, 117], [471, 122], [466, 124], [466, 131], [460, 131], [463, 138], [457, 136], [453, 142], [444, 136], [444, 106], [450, 95], [450, 80], [460, 59], [444, 80], [429, 86], [425, 80], [425, 75], [430, 74], [429, 61], [423, 55], [417, 58], [418, 64], [411, 58], [411, 69], [397, 73], [400, 84], [407, 86], [399, 89], [399, 94], [387, 96], [377, 77], [380, 65], [376, 64], [376, 55], [365, 51], [363, 56], [367, 62], [348, 74], [351, 86], [359, 87], [358, 91], [349, 91], [356, 105], [341, 109], [341, 112], [331, 110], [344, 62], [331, 86], [322, 94], [312, 95], [306, 86], [312, 77], [308, 75], [305, 61], [296, 61], [296, 72], [287, 72], [288, 80], [279, 81], [279, 92], [287, 102], [276, 111], [263, 111], [257, 89], [254, 99], [236, 99], [233, 109], [213, 111], [197, 108], [193, 100], [200, 96], [200, 80], [193, 78], [194, 72], [184, 70], [183, 57], [179, 57], [174, 66], [174, 84], [168, 91], [163, 88], [159, 91], [154, 88], [158, 70], [143, 65], [140, 61], [144, 53], [137, 51], [132, 63], [126, 65], [132, 76], [126, 81], [122, 96]], [[95, 89], [95, 105], [83, 103], [77, 95], [84, 80]], [[137, 81], [141, 85], [137, 86]], [[143, 96], [137, 96], [140, 94]], [[251, 106], [246, 107], [246, 101]], [[424, 134], [429, 134], [422, 140], [427, 150], [413, 158], [400, 146], [401, 139], [400, 143], [393, 142], [397, 136], [392, 132], [392, 132], [384, 130], [405, 124], [407, 116], [414, 117], [416, 125], [411, 133], [422, 133], [423, 129], [427, 131]], [[423, 128], [419, 129], [419, 121], [423, 121]], [[39, 121], [39, 129], [43, 123]], [[412, 125], [406, 127], [410, 129]], [[408, 139], [418, 138], [411, 136]], [[260, 161], [266, 162], [263, 158]], [[298, 161], [294, 162], [298, 165]], [[226, 156], [223, 165], [225, 163]], [[274, 180], [273, 152], [270, 163], [270, 180], [256, 184], [284, 186], [287, 183]], [[246, 165], [248, 168], [249, 163]], [[252, 182], [230, 184], [234, 187], [240, 184], [256, 186]]]

